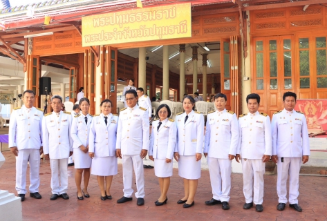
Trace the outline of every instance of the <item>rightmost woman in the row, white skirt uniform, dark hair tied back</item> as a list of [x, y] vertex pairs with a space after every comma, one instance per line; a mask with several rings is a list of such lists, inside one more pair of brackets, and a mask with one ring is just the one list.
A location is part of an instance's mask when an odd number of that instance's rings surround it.
[[201, 157], [203, 153], [204, 119], [194, 112], [194, 98], [183, 98], [185, 113], [176, 115], [177, 140], [174, 157], [178, 161], [178, 175], [183, 177], [185, 196], [178, 200], [184, 208], [194, 205], [194, 195], [201, 176]]

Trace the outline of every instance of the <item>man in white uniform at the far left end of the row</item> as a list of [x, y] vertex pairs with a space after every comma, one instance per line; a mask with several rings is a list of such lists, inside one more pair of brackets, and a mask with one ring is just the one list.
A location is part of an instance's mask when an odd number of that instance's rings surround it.
[[35, 92], [25, 90], [24, 106], [14, 108], [10, 115], [9, 147], [16, 156], [16, 190], [21, 202], [25, 200], [26, 171], [30, 162], [30, 197], [41, 199], [39, 194], [39, 162], [42, 151], [43, 110], [33, 107]]

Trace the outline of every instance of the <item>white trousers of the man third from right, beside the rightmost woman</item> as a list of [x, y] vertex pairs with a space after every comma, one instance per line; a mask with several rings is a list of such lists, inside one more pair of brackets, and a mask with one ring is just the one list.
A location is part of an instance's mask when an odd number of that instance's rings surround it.
[[221, 202], [229, 202], [232, 160], [207, 157], [207, 162], [212, 186], [212, 198], [221, 200]]

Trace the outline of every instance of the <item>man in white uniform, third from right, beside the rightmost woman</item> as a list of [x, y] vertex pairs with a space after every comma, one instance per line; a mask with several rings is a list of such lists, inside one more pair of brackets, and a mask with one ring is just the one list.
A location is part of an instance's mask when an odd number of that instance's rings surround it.
[[217, 111], [207, 115], [205, 131], [205, 157], [208, 157], [212, 200], [207, 205], [222, 204], [223, 209], [230, 209], [230, 175], [232, 160], [239, 145], [239, 124], [234, 112], [227, 111], [227, 97], [218, 93], [214, 97]]

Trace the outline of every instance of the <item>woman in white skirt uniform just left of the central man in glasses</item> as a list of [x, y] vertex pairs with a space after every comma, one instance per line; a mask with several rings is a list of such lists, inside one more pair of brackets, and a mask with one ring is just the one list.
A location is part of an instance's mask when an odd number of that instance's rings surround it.
[[[92, 158], [92, 174], [97, 175], [101, 200], [111, 200], [110, 186], [113, 175], [118, 173], [118, 162], [115, 156], [118, 115], [111, 113], [112, 102], [104, 99], [101, 114], [94, 115], [91, 124], [88, 155]], [[104, 186], [104, 180], [106, 186]]]

